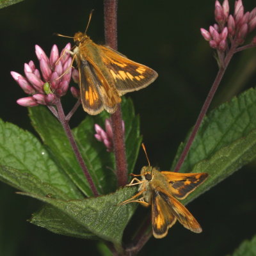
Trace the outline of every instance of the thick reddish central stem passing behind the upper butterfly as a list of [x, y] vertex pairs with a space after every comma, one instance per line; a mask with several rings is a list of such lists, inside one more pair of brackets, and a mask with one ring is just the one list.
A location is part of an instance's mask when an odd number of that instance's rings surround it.
[[[104, 28], [106, 44], [117, 50], [117, 0], [104, 0]], [[113, 144], [116, 160], [118, 186], [127, 184], [127, 161], [125, 154], [124, 132], [122, 129], [122, 111], [120, 104], [111, 115]]]

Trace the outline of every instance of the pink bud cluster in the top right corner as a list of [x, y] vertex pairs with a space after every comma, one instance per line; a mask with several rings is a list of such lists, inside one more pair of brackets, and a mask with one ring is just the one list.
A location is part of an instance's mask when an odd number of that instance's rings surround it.
[[[213, 49], [225, 51], [228, 47], [228, 39], [231, 44], [241, 45], [246, 35], [256, 28], [256, 8], [252, 12], [244, 13], [242, 0], [235, 2], [234, 15], [229, 15], [228, 0], [224, 0], [222, 5], [217, 0], [214, 14], [217, 23], [210, 26], [208, 31], [201, 28], [202, 36], [209, 41]], [[253, 43], [254, 41], [253, 38]]]

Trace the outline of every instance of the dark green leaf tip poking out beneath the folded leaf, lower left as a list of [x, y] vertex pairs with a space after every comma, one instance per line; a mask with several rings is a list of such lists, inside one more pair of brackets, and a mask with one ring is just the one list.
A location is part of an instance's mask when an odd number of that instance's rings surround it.
[[29, 221], [39, 227], [47, 228], [56, 234], [83, 239], [96, 238], [83, 225], [79, 225], [79, 223], [72, 220], [63, 211], [49, 204], [45, 204], [40, 211], [34, 213]]

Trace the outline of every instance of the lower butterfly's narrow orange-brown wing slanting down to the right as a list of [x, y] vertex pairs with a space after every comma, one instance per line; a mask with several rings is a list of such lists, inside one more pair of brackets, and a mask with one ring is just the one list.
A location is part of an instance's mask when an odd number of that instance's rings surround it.
[[184, 205], [180, 204], [180, 202], [175, 199], [174, 196], [166, 193], [166, 191], [161, 188], [157, 189], [157, 193], [161, 200], [163, 200], [163, 202], [168, 205], [169, 211], [175, 218], [177, 218], [177, 220], [179, 220], [180, 224], [195, 233], [202, 232], [202, 228], [194, 216]]

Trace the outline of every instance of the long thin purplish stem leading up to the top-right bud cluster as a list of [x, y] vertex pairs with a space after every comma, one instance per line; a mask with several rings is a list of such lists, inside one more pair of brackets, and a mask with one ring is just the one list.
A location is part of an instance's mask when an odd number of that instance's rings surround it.
[[184, 160], [185, 160], [186, 156], [188, 155], [189, 149], [195, 139], [198, 129], [199, 129], [200, 125], [202, 124], [202, 120], [204, 119], [204, 116], [207, 113], [207, 110], [212, 102], [212, 99], [216, 93], [216, 90], [218, 89], [218, 87], [220, 85], [221, 79], [225, 73], [225, 70], [227, 69], [228, 63], [230, 62], [232, 56], [235, 53], [236, 53], [236, 45], [233, 44], [233, 45], [231, 45], [230, 50], [228, 51], [225, 59], [220, 63], [221, 67], [220, 67], [218, 74], [211, 86], [211, 89], [207, 95], [207, 98], [205, 99], [204, 105], [202, 106], [202, 109], [198, 115], [196, 124], [193, 128], [193, 131], [191, 132], [191, 134], [189, 136], [188, 142], [186, 143], [186, 146], [184, 147], [184, 150], [183, 150], [182, 154], [180, 155], [179, 161], [175, 166], [174, 172], [179, 172], [182, 164], [184, 163]]

